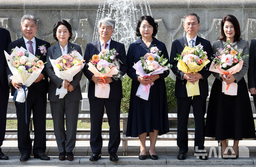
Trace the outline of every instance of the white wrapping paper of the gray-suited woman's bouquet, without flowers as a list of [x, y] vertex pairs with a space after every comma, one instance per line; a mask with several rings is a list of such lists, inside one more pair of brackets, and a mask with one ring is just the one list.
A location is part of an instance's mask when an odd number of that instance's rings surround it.
[[[81, 63], [81, 65], [74, 65], [73, 67], [65, 70], [65, 71], [60, 71], [59, 68], [56, 66], [58, 64], [59, 59], [61, 59], [64, 55], [60, 56], [57, 59], [50, 59], [50, 62], [52, 63], [53, 70], [56, 76], [58, 76], [60, 79], [63, 80], [63, 86], [61, 88], [56, 88], [56, 93], [55, 95], [59, 95], [59, 99], [62, 99], [65, 97], [65, 95], [68, 93], [68, 90], [64, 88], [65, 80], [72, 81], [73, 77], [82, 70], [84, 67], [84, 63]], [[79, 52], [75, 53], [75, 58], [79, 59], [80, 61], [83, 60], [84, 58], [81, 56]]]

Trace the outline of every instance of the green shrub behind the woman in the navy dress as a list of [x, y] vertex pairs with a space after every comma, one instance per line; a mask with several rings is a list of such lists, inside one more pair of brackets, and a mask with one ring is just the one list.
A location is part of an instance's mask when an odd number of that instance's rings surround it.
[[[167, 76], [165, 78], [165, 84], [166, 84], [168, 111], [171, 111], [172, 109], [177, 108], [176, 97], [174, 96], [175, 80], [173, 80], [170, 76]], [[122, 86], [123, 86], [123, 98], [121, 102], [121, 111], [123, 113], [128, 113], [132, 79], [130, 79], [129, 76], [125, 76], [123, 78]]]

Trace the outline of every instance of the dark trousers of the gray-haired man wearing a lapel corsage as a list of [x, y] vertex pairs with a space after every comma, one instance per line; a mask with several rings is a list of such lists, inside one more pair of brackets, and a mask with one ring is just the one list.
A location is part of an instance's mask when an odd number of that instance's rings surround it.
[[33, 85], [28, 87], [27, 95], [27, 120], [25, 120], [25, 103], [18, 104], [15, 101], [18, 120], [18, 149], [21, 154], [32, 151], [30, 139], [30, 117], [33, 111], [34, 144], [33, 153], [46, 151], [46, 94], [38, 94]]

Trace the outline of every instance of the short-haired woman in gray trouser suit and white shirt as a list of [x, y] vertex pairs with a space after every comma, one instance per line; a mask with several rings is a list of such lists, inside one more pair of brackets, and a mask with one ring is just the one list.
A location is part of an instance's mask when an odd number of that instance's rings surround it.
[[[47, 49], [46, 72], [50, 78], [48, 100], [53, 117], [54, 134], [59, 149], [59, 160], [74, 160], [72, 153], [76, 142], [76, 128], [79, 113], [79, 101], [82, 99], [80, 88], [80, 80], [82, 71], [73, 77], [71, 82], [63, 80], [55, 75], [50, 59], [57, 59], [63, 54], [71, 53], [73, 49], [77, 50], [81, 55], [81, 47], [69, 42], [72, 37], [71, 25], [65, 21], [58, 21], [53, 27], [53, 38], [57, 40], [57, 44]], [[55, 95], [56, 88], [64, 86], [68, 93], [64, 98], [59, 99], [59, 95]], [[66, 132], [65, 117], [66, 116]]]

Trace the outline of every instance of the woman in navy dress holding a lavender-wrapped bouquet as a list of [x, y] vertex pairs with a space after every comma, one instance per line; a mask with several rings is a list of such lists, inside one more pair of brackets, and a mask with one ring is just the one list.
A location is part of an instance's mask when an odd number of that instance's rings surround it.
[[[140, 60], [146, 53], [150, 53], [149, 48], [156, 46], [168, 59], [166, 46], [154, 36], [157, 33], [158, 23], [151, 16], [142, 16], [138, 21], [136, 35], [141, 36], [137, 41], [130, 44], [127, 52], [128, 72], [132, 78], [132, 88], [130, 92], [130, 105], [127, 123], [126, 136], [139, 137], [140, 160], [146, 159], [146, 136], [150, 138], [149, 154], [151, 159], [157, 160], [155, 144], [158, 135], [169, 132], [168, 109], [166, 98], [166, 87], [164, 78], [169, 75], [169, 70], [162, 74], [151, 75], [151, 77], [141, 77], [136, 74], [133, 68], [134, 63]], [[149, 98], [144, 100], [136, 96], [138, 87], [141, 84], [153, 83], [150, 87]]]

